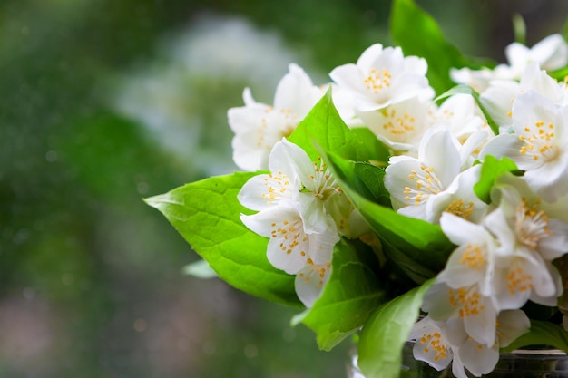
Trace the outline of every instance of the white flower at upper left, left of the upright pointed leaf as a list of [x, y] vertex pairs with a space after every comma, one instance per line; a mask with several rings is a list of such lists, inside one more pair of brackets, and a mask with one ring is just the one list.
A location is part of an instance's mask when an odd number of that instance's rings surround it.
[[322, 94], [296, 64], [290, 64], [289, 73], [280, 80], [273, 105], [255, 102], [250, 89], [245, 89], [245, 106], [228, 111], [229, 125], [235, 133], [235, 164], [242, 170], [266, 170], [274, 144], [296, 129]]

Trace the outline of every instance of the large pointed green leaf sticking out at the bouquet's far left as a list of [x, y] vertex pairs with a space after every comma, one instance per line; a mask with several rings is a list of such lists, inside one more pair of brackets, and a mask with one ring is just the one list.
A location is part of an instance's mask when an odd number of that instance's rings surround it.
[[237, 194], [257, 173], [237, 172], [187, 184], [145, 199], [159, 209], [193, 249], [231, 286], [285, 305], [300, 305], [294, 277], [272, 267], [266, 257], [269, 239], [240, 221]]

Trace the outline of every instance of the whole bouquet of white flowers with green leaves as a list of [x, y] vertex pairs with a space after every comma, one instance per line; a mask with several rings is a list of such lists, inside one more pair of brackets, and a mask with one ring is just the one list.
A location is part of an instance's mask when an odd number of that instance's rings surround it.
[[273, 104], [244, 91], [228, 113], [243, 171], [147, 202], [230, 285], [305, 306], [293, 322], [320, 348], [360, 331], [368, 378], [398, 376], [408, 340], [460, 378], [521, 346], [568, 350], [568, 44], [481, 65], [412, 0], [392, 12], [397, 47], [331, 83], [290, 64]]

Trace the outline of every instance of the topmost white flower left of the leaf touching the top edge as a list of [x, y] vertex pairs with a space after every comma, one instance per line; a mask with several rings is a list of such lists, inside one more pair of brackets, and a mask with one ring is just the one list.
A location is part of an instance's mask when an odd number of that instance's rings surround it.
[[421, 96], [432, 98], [426, 79], [426, 60], [405, 57], [400, 47], [373, 44], [357, 60], [336, 67], [329, 76], [351, 92], [358, 111], [377, 111], [393, 103]]

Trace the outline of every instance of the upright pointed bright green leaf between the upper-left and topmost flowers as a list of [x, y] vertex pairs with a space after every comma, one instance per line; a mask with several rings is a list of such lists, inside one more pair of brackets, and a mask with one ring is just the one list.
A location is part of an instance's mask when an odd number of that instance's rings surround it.
[[331, 99], [331, 88], [299, 122], [289, 141], [304, 149], [312, 160], [321, 156], [322, 150], [332, 150], [351, 160], [368, 160], [367, 149], [339, 117]]

